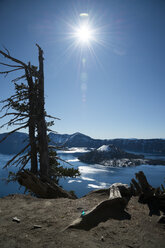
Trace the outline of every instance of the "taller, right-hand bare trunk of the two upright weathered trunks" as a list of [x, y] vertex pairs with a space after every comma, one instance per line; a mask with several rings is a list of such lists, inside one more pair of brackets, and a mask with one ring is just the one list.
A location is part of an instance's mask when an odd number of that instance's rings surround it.
[[39, 50], [39, 81], [38, 81], [38, 147], [40, 154], [40, 173], [41, 177], [48, 176], [49, 169], [49, 154], [48, 154], [48, 140], [47, 128], [45, 122], [45, 109], [44, 109], [44, 69], [43, 69], [43, 51], [37, 45]]

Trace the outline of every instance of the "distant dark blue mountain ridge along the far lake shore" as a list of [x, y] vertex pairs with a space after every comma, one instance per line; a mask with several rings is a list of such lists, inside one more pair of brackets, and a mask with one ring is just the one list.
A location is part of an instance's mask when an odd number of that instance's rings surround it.
[[[0, 140], [6, 133], [0, 134]], [[164, 139], [93, 139], [90, 136], [76, 132], [73, 134], [49, 133], [50, 144], [62, 147], [99, 148], [102, 145], [113, 144], [130, 152], [155, 153], [165, 155]], [[0, 143], [0, 153], [14, 154], [19, 152], [28, 142], [28, 134], [16, 132]]]

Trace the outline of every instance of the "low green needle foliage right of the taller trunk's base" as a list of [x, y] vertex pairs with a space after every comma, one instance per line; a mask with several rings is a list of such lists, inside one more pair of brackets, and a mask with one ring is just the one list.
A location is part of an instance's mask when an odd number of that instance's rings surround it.
[[80, 176], [78, 169], [65, 168], [57, 162], [57, 153], [55, 150], [49, 150], [49, 176], [58, 184], [60, 178]]

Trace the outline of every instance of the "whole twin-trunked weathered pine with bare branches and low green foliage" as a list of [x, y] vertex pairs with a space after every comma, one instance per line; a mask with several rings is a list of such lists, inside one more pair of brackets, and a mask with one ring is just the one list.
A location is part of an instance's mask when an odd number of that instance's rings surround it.
[[74, 177], [79, 175], [79, 171], [59, 166], [55, 147], [51, 146], [49, 149], [47, 131], [50, 131], [49, 127], [54, 122], [46, 122], [45, 118], [58, 118], [47, 115], [45, 111], [43, 50], [39, 45], [36, 44], [36, 46], [39, 54], [39, 68], [31, 65], [30, 62], [25, 64], [12, 57], [7, 49], [5, 52], [0, 50], [2, 56], [14, 62], [14, 64], [0, 63], [0, 65], [10, 68], [0, 74], [7, 75], [15, 71], [23, 71], [23, 75], [12, 80], [15, 94], [1, 101], [4, 104], [1, 111], [5, 110], [5, 113], [0, 118], [11, 117], [1, 127], [11, 125], [18, 125], [18, 127], [7, 133], [0, 142], [16, 131], [28, 128], [29, 143], [8, 161], [5, 167], [16, 164], [21, 165], [20, 170], [23, 170], [30, 160], [33, 174], [39, 175], [40, 178], [51, 178], [57, 183], [60, 177]]

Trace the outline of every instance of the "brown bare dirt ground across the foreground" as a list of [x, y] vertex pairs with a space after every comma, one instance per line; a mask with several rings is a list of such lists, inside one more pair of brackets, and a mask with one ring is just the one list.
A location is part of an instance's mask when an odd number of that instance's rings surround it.
[[[149, 217], [148, 207], [133, 197], [127, 207], [131, 219], [109, 219], [89, 231], [66, 229], [81, 211], [90, 210], [105, 193], [92, 193], [70, 200], [37, 199], [26, 195], [10, 195], [0, 199], [1, 248], [164, 248], [165, 226], [157, 216]], [[20, 219], [14, 222], [13, 217]], [[41, 228], [34, 228], [39, 225]]]

